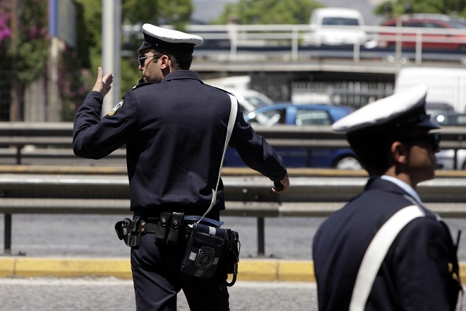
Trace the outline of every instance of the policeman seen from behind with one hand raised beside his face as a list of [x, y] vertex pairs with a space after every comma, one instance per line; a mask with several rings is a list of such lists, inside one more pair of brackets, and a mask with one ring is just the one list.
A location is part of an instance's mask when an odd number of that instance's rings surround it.
[[[76, 112], [73, 151], [98, 159], [126, 144], [133, 217], [155, 225], [162, 212], [199, 218], [208, 210], [217, 184], [232, 101], [227, 92], [205, 85], [189, 70], [201, 37], [150, 24], [143, 25], [143, 35], [140, 84], [100, 119], [113, 76], [99, 68], [95, 87]], [[239, 109], [229, 146], [250, 168], [275, 182], [274, 192], [289, 187], [282, 158]], [[215, 206], [204, 221], [220, 225], [223, 209], [220, 181]], [[180, 273], [186, 242], [158, 243], [148, 231], [140, 238], [140, 245], [131, 248], [137, 310], [177, 310], [181, 289], [191, 310], [229, 310], [225, 279], [203, 281]]]

